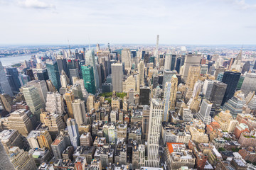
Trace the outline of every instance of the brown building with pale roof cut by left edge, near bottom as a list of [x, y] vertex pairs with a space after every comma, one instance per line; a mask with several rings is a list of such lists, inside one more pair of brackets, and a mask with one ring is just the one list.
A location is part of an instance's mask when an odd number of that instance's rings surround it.
[[0, 142], [7, 154], [9, 154], [9, 148], [11, 147], [23, 148], [24, 146], [23, 138], [18, 130], [3, 130], [0, 132]]

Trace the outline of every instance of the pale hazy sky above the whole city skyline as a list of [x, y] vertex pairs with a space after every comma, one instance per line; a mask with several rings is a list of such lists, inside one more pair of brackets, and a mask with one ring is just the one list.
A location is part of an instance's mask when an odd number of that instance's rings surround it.
[[256, 45], [255, 0], [0, 0], [0, 45]]

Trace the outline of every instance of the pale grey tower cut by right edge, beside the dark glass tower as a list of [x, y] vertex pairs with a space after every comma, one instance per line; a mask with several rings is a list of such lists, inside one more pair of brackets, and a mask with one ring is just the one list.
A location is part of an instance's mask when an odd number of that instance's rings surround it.
[[256, 74], [246, 73], [245, 79], [242, 82], [241, 91], [245, 96], [247, 96], [250, 91], [256, 91]]

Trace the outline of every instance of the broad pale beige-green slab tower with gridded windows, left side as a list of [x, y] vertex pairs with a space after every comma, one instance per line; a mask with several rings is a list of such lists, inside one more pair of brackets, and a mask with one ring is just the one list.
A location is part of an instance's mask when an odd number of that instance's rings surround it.
[[36, 89], [35, 86], [23, 86], [22, 93], [29, 109], [33, 115], [36, 115], [36, 118], [39, 120], [42, 104], [40, 95], [38, 94], [38, 89]]

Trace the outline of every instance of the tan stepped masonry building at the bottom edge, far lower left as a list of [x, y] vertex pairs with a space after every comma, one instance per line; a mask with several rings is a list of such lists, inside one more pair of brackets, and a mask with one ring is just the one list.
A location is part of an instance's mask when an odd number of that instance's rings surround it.
[[36, 162], [31, 154], [25, 152], [19, 147], [12, 147], [9, 153], [9, 159], [14, 164], [15, 169], [34, 170], [37, 169]]

